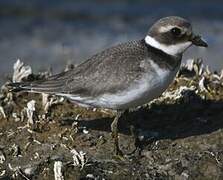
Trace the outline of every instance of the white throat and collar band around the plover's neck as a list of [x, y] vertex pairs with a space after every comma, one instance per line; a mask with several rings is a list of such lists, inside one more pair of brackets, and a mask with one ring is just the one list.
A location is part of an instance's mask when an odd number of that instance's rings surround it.
[[146, 44], [154, 48], [157, 48], [172, 56], [176, 56], [178, 54], [183, 53], [184, 51], [187, 50], [188, 47], [192, 45], [192, 42], [190, 41], [184, 42], [184, 43], [173, 44], [173, 45], [166, 45], [166, 44], [162, 44], [158, 42], [156, 39], [154, 39], [153, 37], [149, 35], [145, 37], [145, 42]]

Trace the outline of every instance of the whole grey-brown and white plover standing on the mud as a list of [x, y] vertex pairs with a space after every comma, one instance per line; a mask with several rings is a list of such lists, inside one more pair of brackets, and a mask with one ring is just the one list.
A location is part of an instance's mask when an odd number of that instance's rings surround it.
[[12, 83], [14, 90], [64, 96], [80, 105], [118, 110], [111, 127], [118, 146], [117, 123], [121, 111], [158, 97], [175, 77], [183, 52], [192, 44], [207, 47], [180, 17], [156, 22], [143, 40], [102, 51], [73, 70], [48, 80]]

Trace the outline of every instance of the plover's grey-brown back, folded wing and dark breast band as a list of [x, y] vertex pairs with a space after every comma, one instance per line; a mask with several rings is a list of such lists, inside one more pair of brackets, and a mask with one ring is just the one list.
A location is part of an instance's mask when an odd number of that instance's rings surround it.
[[[166, 61], [163, 61], [163, 57]], [[169, 56], [146, 45], [144, 40], [131, 41], [104, 50], [75, 69], [51, 76], [48, 80], [18, 85], [21, 90], [32, 92], [96, 97], [122, 91], [144, 73], [152, 73], [154, 70], [149, 64], [151, 59], [169, 70], [181, 61], [180, 57]], [[142, 61], [145, 61], [143, 66]]]

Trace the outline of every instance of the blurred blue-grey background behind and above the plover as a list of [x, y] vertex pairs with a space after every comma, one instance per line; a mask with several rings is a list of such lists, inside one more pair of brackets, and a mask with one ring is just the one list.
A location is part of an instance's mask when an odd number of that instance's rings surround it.
[[221, 0], [0, 0], [0, 82], [19, 58], [34, 72], [80, 63], [120, 42], [142, 39], [157, 19], [189, 19], [208, 49], [190, 48], [184, 56], [203, 58], [212, 70], [223, 68]]

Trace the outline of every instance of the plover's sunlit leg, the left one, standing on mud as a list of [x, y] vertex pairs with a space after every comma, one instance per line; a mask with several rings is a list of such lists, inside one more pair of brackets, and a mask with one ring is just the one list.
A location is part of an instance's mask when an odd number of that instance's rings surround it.
[[119, 148], [119, 141], [118, 141], [118, 120], [122, 116], [123, 111], [117, 111], [116, 116], [111, 124], [111, 131], [112, 131], [112, 138], [114, 139], [114, 151], [115, 155], [123, 156], [122, 151]]

